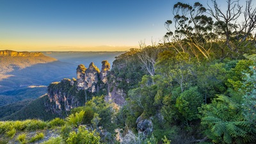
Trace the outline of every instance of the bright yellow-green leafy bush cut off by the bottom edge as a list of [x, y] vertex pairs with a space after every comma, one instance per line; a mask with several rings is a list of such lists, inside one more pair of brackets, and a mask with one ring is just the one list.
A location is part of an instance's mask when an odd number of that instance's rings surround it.
[[86, 127], [79, 127], [77, 132], [70, 132], [66, 141], [68, 144], [96, 144], [100, 143], [100, 136], [95, 131], [88, 131]]

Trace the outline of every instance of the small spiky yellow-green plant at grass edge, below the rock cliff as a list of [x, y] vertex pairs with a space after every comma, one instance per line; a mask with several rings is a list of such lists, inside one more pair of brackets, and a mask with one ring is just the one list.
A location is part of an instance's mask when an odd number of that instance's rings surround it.
[[73, 125], [74, 127], [79, 127], [79, 125], [82, 124], [83, 122], [83, 117], [84, 117], [84, 111], [80, 111], [79, 113], [75, 113], [69, 115], [67, 119], [67, 124], [68, 125]]

